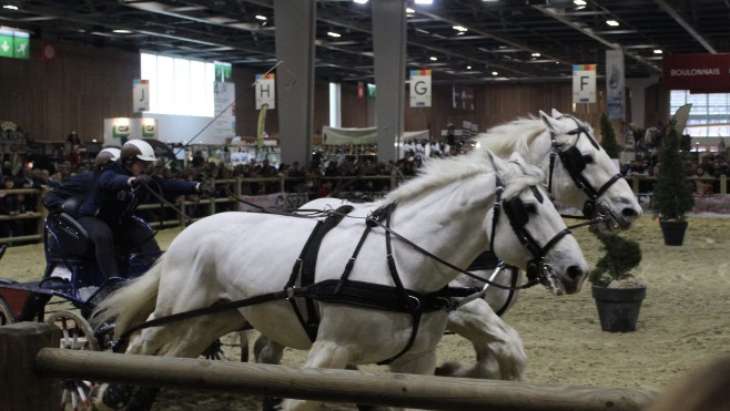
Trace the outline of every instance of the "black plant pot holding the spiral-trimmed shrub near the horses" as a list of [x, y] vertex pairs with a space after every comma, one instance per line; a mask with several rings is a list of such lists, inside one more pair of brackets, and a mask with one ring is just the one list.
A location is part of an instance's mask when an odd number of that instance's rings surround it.
[[604, 331], [636, 331], [641, 301], [647, 296], [647, 287], [608, 288], [592, 286], [591, 291], [598, 308], [600, 328]]

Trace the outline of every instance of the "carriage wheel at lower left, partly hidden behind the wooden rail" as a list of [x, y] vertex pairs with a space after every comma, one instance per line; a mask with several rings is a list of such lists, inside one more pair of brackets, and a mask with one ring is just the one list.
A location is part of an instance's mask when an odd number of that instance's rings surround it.
[[[55, 311], [45, 319], [45, 322], [58, 326], [63, 336], [60, 348], [67, 350], [99, 351], [99, 342], [89, 322], [80, 315], [71, 311]], [[89, 392], [93, 382], [84, 380], [64, 380], [61, 410], [91, 410]]]

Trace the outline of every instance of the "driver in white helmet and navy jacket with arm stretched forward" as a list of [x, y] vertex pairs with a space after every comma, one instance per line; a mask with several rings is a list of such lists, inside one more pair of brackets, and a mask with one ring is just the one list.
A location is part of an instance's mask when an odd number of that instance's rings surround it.
[[114, 243], [129, 245], [140, 253], [160, 251], [154, 233], [133, 218], [138, 205], [150, 196], [150, 189], [165, 195], [210, 195], [213, 192], [203, 183], [146, 174], [155, 161], [154, 150], [148, 142], [130, 140], [122, 146], [120, 158], [99, 174], [91, 195], [81, 205], [83, 217], [104, 223], [113, 233], [113, 238], [97, 237], [94, 242], [97, 260], [107, 277], [120, 276]]

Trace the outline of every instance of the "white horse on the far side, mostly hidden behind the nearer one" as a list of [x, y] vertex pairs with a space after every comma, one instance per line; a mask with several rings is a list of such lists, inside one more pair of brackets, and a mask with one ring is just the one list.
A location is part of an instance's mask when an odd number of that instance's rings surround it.
[[[527, 163], [539, 166], [546, 176], [545, 184], [559, 203], [587, 212], [587, 217], [602, 215], [608, 229], [628, 228], [641, 215], [629, 184], [620, 178], [616, 165], [596, 142], [590, 126], [577, 119], [552, 110], [539, 119], [520, 119], [498, 125], [477, 135], [477, 151], [491, 151], [501, 157], [519, 153]], [[329, 209], [348, 202], [321, 198], [302, 206], [303, 209]], [[357, 204], [353, 204], [357, 206]], [[475, 270], [488, 278], [491, 271]], [[517, 277], [513, 277], [517, 276]], [[523, 273], [505, 270], [491, 280], [505, 287], [524, 282]], [[458, 276], [453, 287], [481, 288], [478, 280]], [[516, 301], [516, 290], [487, 287], [483, 299], [475, 299], [449, 312], [448, 326], [472, 341], [477, 361], [460, 366], [447, 362], [437, 373], [452, 377], [521, 380], [527, 367], [527, 355], [514, 328], [505, 323], [495, 311], [506, 312]], [[284, 347], [260, 337], [254, 345], [257, 362], [278, 363]]]

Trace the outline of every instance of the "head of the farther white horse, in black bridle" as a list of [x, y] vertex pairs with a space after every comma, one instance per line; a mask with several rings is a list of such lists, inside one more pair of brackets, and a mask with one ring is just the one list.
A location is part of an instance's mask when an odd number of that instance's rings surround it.
[[557, 110], [551, 116], [540, 111], [540, 120], [552, 140], [550, 194], [565, 205], [582, 209], [587, 217], [605, 217], [606, 228], [631, 226], [641, 216], [641, 206], [591, 127]]

